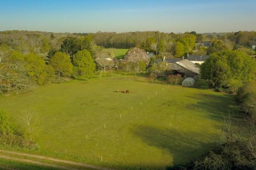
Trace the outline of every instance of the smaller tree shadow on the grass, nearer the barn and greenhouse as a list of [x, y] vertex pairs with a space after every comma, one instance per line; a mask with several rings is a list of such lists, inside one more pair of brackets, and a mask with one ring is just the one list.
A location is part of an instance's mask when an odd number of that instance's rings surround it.
[[185, 108], [198, 112], [207, 112], [207, 114], [202, 114], [203, 116], [207, 116], [207, 118], [221, 121], [223, 117], [227, 117], [229, 114], [233, 115], [233, 118], [239, 116], [239, 108], [234, 100], [234, 95], [194, 94], [193, 96], [189, 95], [187, 97], [197, 99], [198, 102], [188, 104]]

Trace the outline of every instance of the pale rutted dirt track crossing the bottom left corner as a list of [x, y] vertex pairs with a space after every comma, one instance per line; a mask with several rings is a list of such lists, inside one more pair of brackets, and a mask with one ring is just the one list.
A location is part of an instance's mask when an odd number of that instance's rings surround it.
[[83, 164], [83, 163], [77, 163], [77, 162], [72, 162], [72, 161], [68, 161], [68, 160], [51, 158], [51, 157], [47, 157], [47, 156], [32, 155], [32, 154], [25, 154], [25, 153], [13, 152], [13, 151], [0, 150], [0, 158], [3, 158], [3, 159], [9, 159], [9, 160], [14, 160], [14, 161], [18, 161], [18, 162], [33, 163], [33, 164], [38, 164], [38, 165], [42, 165], [42, 166], [49, 166], [49, 167], [54, 167], [54, 168], [60, 168], [60, 169], [78, 170], [78, 169], [75, 169], [75, 168], [68, 168], [68, 167], [65, 167], [65, 166], [60, 166], [60, 165], [55, 165], [55, 164], [42, 163], [42, 162], [32, 161], [32, 160], [29, 160], [29, 159], [22, 159], [22, 158], [15, 158], [15, 157], [11, 157], [11, 156], [6, 156], [6, 155], [3, 155], [2, 153], [12, 154], [12, 155], [16, 155], [16, 156], [26, 156], [26, 157], [37, 158], [37, 159], [45, 159], [45, 160], [50, 160], [50, 161], [54, 161], [54, 162], [58, 162], [58, 163], [66, 163], [66, 164], [69, 164], [69, 165], [76, 165], [76, 166], [90, 168], [90, 169], [113, 170], [113, 169], [103, 168], [103, 167], [94, 166], [94, 165], [90, 165], [90, 164]]

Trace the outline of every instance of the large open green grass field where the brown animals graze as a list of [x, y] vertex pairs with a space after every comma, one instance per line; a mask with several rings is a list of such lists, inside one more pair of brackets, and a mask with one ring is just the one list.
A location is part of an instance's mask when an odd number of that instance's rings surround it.
[[37, 119], [35, 153], [117, 169], [164, 169], [200, 157], [216, 147], [222, 117], [234, 105], [230, 94], [142, 76], [74, 80], [0, 97], [0, 108], [18, 125], [25, 112]]

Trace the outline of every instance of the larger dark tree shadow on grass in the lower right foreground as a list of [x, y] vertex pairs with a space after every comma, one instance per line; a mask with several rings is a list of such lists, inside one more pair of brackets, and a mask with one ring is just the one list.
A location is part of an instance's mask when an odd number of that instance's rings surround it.
[[173, 156], [172, 165], [166, 167], [167, 169], [172, 169], [173, 166], [187, 165], [191, 160], [201, 157], [218, 145], [208, 140], [217, 136], [208, 136], [203, 133], [158, 129], [150, 126], [136, 126], [132, 132], [144, 143], [166, 150]]

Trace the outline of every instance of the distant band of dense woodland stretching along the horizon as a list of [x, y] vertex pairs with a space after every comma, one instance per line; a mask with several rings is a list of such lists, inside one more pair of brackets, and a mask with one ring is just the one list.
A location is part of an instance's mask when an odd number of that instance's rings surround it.
[[[186, 32], [183, 34], [151, 32], [127, 33], [47, 33], [38, 31], [3, 31], [0, 32], [0, 44], [5, 43], [12, 49], [23, 54], [36, 53], [46, 58], [50, 50], [58, 50], [66, 37], [91, 37], [93, 45], [104, 48], [139, 47], [145, 51], [154, 52], [159, 58], [181, 57], [185, 54], [207, 54], [206, 48], [200, 42], [224, 42], [227, 47], [241, 48], [242, 51], [253, 55], [248, 50], [256, 41], [256, 32], [235, 33], [205, 33]], [[209, 53], [208, 53], [209, 54]]]

